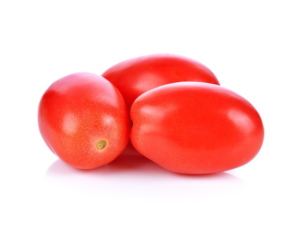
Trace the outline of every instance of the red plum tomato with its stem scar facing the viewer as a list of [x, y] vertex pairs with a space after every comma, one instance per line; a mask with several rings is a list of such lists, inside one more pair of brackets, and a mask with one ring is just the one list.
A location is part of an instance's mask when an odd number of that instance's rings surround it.
[[80, 169], [116, 159], [130, 134], [121, 93], [92, 73], [70, 74], [51, 84], [39, 103], [38, 126], [51, 151]]

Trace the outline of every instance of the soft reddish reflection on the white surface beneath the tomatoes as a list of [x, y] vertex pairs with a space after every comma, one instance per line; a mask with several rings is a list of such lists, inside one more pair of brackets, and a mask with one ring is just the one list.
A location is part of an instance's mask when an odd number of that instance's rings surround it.
[[242, 180], [227, 172], [177, 174], [139, 155], [120, 155], [112, 163], [93, 170], [75, 169], [58, 159], [47, 170], [45, 180], [68, 191], [133, 200], [214, 199], [245, 188]]

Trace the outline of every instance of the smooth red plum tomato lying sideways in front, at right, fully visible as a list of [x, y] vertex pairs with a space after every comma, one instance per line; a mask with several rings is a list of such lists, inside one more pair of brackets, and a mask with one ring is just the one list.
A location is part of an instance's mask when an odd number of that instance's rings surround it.
[[176, 82], [140, 95], [131, 107], [131, 142], [164, 168], [209, 174], [250, 162], [264, 127], [242, 96], [219, 85]]

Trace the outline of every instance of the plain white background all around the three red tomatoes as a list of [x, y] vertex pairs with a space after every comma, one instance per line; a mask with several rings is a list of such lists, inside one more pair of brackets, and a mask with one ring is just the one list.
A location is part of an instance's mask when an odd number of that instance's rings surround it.
[[[304, 235], [301, 0], [3, 0], [0, 235]], [[37, 107], [55, 80], [135, 56], [202, 62], [259, 111], [252, 162], [208, 176], [139, 157], [92, 171], [54, 156]]]

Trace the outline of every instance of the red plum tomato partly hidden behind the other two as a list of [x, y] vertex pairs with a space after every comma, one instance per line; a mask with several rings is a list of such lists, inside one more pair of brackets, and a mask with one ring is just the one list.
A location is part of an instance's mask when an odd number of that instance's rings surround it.
[[202, 63], [175, 54], [151, 54], [122, 61], [102, 76], [111, 81], [124, 97], [130, 110], [145, 91], [179, 81], [220, 84], [214, 73]]

